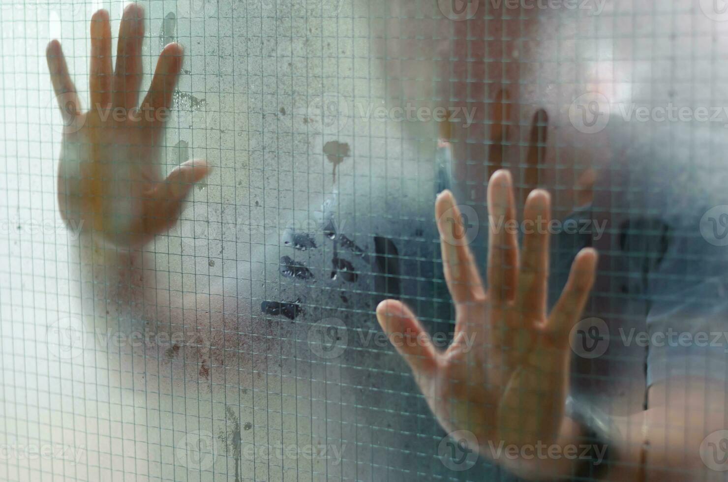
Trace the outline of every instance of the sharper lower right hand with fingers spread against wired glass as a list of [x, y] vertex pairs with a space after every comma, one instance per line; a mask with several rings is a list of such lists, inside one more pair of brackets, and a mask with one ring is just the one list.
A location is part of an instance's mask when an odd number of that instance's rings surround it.
[[[549, 194], [532, 191], [523, 226], [537, 226], [539, 219], [548, 226], [550, 209]], [[400, 301], [383, 301], [376, 310], [440, 424], [448, 432], [472, 432], [483, 455], [491, 443], [558, 443], [568, 391], [569, 332], [587, 301], [597, 262], [593, 249], [577, 255], [561, 299], [547, 315], [549, 234], [526, 230], [519, 253], [515, 232], [502, 227], [515, 219], [513, 182], [505, 170], [488, 183], [488, 213], [495, 221], [488, 223], [486, 291], [463, 242], [454, 197], [444, 191], [435, 203], [445, 278], [456, 307], [454, 340], [445, 352], [435, 349]], [[522, 470], [524, 461], [517, 465]]]

